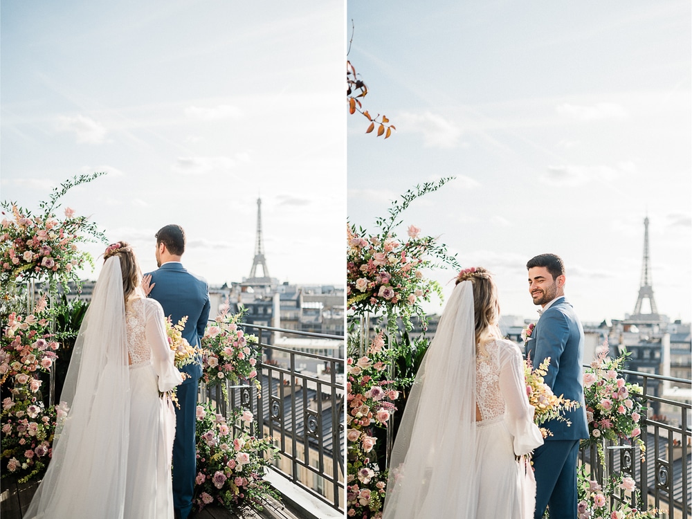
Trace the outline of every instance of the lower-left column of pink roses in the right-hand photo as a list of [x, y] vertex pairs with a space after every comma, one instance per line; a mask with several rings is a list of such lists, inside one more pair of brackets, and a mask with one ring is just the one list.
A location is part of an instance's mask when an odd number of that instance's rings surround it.
[[377, 464], [374, 427], [387, 427], [400, 392], [386, 379], [394, 352], [385, 349], [384, 333], [371, 341], [367, 354], [347, 359], [347, 507], [357, 518], [381, 516], [388, 472]]

